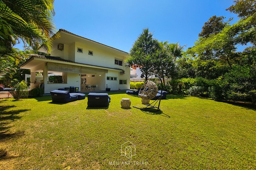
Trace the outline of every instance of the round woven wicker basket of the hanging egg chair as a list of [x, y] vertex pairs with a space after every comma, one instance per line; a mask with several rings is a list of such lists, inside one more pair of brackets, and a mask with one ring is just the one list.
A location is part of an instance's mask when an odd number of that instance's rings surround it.
[[142, 99], [153, 99], [158, 92], [156, 83], [147, 80], [140, 89], [139, 97]]

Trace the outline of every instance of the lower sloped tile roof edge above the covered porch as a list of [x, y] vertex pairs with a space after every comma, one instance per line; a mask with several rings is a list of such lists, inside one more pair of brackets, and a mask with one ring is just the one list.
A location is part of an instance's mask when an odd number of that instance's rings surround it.
[[85, 64], [85, 63], [80, 63], [80, 62], [74, 62], [71, 60], [65, 60], [63, 58], [56, 57], [56, 56], [44, 56], [44, 55], [38, 55], [38, 54], [31, 54], [30, 58], [27, 61], [25, 61], [20, 67], [22, 67], [26, 62], [28, 62], [33, 57], [45, 58], [45, 59], [57, 60], [57, 61], [64, 61], [64, 62], [70, 62], [70, 63], [76, 63], [76, 64], [83, 64], [83, 65], [87, 65], [87, 66], [95, 66], [95, 67], [109, 68], [109, 69], [115, 69], [115, 70], [122, 70], [120, 68], [111, 68], [111, 67], [104, 67], [104, 66], [99, 66], [99, 65]]

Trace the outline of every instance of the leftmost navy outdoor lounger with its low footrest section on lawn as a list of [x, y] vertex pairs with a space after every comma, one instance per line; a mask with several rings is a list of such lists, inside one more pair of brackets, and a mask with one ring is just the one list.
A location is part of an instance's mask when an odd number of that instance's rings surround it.
[[53, 90], [50, 92], [53, 102], [68, 103], [75, 100], [85, 99], [85, 94], [69, 93], [69, 91]]

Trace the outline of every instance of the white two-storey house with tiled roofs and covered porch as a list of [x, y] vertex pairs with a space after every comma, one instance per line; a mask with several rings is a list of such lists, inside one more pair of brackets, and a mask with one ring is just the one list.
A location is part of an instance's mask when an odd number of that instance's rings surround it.
[[43, 78], [38, 78], [45, 93], [70, 86], [79, 87], [79, 91], [105, 90], [106, 86], [130, 89], [130, 68], [124, 67], [127, 52], [63, 29], [59, 33], [51, 56], [32, 54], [20, 67], [31, 70], [31, 81], [37, 79], [36, 72], [42, 72]]

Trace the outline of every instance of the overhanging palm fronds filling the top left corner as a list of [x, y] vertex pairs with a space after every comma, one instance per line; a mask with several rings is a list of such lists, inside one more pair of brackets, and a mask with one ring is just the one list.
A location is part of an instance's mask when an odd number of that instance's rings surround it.
[[10, 54], [18, 40], [50, 51], [58, 38], [53, 24], [54, 0], [0, 0], [0, 54]]

